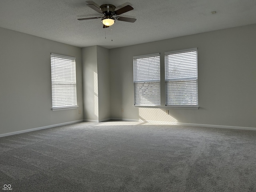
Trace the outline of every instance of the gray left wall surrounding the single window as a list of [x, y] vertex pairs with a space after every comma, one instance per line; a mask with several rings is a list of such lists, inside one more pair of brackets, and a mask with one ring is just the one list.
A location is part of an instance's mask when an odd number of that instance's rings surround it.
[[[83, 120], [81, 48], [0, 28], [0, 134]], [[52, 111], [50, 54], [76, 57], [78, 108]]]

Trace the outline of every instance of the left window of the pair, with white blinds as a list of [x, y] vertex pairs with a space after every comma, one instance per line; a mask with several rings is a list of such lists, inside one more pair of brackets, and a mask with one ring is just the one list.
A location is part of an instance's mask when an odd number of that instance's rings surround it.
[[160, 54], [135, 56], [134, 105], [160, 106]]

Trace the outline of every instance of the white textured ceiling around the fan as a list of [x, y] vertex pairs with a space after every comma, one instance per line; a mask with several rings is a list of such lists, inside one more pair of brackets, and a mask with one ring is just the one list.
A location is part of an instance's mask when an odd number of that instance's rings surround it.
[[100, 19], [77, 20], [101, 16], [85, 0], [0, 0], [0, 27], [78, 47], [116, 48], [256, 23], [256, 0], [126, 1], [94, 0], [134, 8], [120, 16], [136, 22], [103, 29]]

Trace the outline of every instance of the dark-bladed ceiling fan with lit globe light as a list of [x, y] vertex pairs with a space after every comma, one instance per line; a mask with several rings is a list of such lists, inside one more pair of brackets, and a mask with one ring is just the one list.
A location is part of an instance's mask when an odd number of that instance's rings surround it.
[[120, 17], [118, 15], [133, 10], [132, 6], [126, 5], [118, 10], [116, 10], [116, 6], [112, 4], [103, 4], [98, 8], [95, 4], [87, 4], [88, 7], [92, 8], [96, 12], [103, 15], [103, 17], [90, 17], [90, 18], [80, 18], [78, 20], [89, 20], [89, 19], [99, 19], [101, 18], [103, 23], [103, 28], [107, 28], [114, 24], [116, 20], [118, 21], [125, 21], [134, 23], [136, 19], [128, 18], [128, 17]]

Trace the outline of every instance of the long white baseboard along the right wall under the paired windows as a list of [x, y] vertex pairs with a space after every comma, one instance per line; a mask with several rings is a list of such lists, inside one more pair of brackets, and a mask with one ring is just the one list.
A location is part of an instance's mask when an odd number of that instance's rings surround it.
[[240, 127], [240, 126], [226, 126], [226, 125], [210, 125], [210, 124], [194, 124], [194, 123], [179, 123], [179, 122], [162, 122], [162, 121], [147, 121], [137, 119], [123, 119], [123, 118], [111, 118], [116, 121], [135, 121], [144, 123], [155, 123], [155, 124], [167, 124], [167, 125], [184, 125], [184, 126], [198, 126], [198, 127], [211, 127], [211, 128], [225, 128], [225, 129], [240, 129], [240, 130], [255, 130], [254, 127]]

